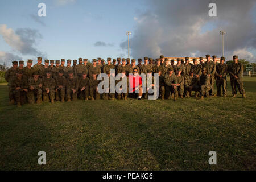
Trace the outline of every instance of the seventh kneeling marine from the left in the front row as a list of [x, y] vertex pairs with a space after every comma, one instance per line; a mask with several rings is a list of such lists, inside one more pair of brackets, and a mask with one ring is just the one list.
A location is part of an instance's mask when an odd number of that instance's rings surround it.
[[101, 96], [100, 93], [98, 93], [98, 83], [99, 81], [97, 80], [97, 72], [92, 71], [92, 77], [89, 79], [89, 89], [90, 89], [90, 98], [93, 101], [94, 98], [96, 100], [100, 100]]

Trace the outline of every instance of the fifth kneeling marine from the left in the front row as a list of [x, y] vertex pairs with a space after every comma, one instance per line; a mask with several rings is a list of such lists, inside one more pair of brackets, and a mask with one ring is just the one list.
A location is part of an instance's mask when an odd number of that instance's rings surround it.
[[73, 71], [68, 72], [69, 77], [67, 78], [66, 82], [66, 93], [67, 93], [67, 100], [68, 102], [76, 101], [77, 100], [77, 90], [79, 88], [79, 81], [77, 77], [74, 76]]

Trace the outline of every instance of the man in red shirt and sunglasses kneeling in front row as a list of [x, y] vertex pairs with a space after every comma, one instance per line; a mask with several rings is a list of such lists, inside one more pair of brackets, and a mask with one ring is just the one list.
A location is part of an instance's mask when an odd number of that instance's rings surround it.
[[129, 93], [139, 94], [138, 100], [142, 97], [142, 78], [138, 75], [138, 69], [133, 69], [133, 75], [129, 75]]

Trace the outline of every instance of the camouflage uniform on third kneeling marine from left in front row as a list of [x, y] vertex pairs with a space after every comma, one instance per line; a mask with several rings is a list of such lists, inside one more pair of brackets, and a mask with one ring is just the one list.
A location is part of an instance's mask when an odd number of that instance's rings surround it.
[[[42, 91], [43, 91], [43, 101], [48, 101], [49, 99], [52, 101], [54, 100], [55, 97], [55, 80], [50, 77], [44, 77], [42, 79], [43, 86], [42, 86]], [[46, 88], [49, 89], [49, 93], [46, 92]]]

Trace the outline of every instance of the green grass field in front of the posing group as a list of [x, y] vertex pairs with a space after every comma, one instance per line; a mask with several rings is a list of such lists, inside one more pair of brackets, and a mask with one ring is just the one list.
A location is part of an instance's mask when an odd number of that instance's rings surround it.
[[[1, 170], [255, 170], [256, 78], [246, 99], [9, 105], [0, 84]], [[38, 164], [39, 151], [46, 165]], [[209, 165], [209, 151], [217, 165]]]

